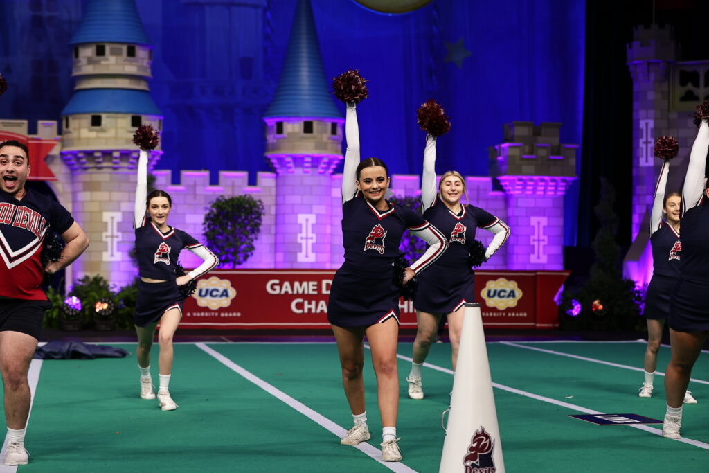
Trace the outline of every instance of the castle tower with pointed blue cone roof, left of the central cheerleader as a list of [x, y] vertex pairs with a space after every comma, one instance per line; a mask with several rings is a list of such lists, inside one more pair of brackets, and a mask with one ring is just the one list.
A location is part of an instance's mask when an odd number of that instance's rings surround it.
[[281, 79], [264, 121], [266, 157], [278, 174], [276, 267], [330, 267], [336, 242], [323, 229], [339, 223], [330, 202], [323, 202], [323, 189], [332, 186], [342, 160], [344, 120], [323, 72], [310, 0], [298, 0]]

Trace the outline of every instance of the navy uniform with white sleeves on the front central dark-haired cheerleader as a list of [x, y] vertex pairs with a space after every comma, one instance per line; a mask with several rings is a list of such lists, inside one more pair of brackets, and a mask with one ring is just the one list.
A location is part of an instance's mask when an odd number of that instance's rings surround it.
[[[342, 177], [342, 245], [345, 262], [330, 287], [328, 321], [340, 327], [368, 327], [394, 318], [399, 323], [393, 262], [401, 236], [409, 230], [430, 248], [411, 265], [419, 273], [445, 252], [445, 238], [415, 211], [389, 204], [379, 211], [356, 189], [359, 133], [354, 106], [347, 107], [347, 153]], [[347, 197], [345, 197], [347, 196]]]

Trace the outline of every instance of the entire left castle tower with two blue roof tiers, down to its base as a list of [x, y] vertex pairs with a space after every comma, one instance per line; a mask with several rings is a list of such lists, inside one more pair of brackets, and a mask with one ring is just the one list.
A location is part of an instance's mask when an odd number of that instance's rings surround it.
[[[147, 84], [152, 46], [135, 0], [87, 0], [69, 45], [76, 86], [62, 111], [61, 157], [72, 172], [72, 213], [91, 240], [73, 266], [77, 279], [101, 274], [121, 286], [135, 277], [133, 133], [143, 124], [162, 130]], [[151, 166], [160, 155], [150, 153]]]

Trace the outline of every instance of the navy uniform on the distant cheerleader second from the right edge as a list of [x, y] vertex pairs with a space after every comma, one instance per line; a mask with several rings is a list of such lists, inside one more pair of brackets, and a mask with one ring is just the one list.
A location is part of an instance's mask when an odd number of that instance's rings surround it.
[[643, 316], [656, 320], [664, 320], [669, 313], [669, 296], [679, 277], [682, 252], [679, 233], [669, 223], [661, 220], [668, 172], [669, 163], [664, 162], [659, 179], [657, 179], [650, 216], [652, 279], [647, 285]]

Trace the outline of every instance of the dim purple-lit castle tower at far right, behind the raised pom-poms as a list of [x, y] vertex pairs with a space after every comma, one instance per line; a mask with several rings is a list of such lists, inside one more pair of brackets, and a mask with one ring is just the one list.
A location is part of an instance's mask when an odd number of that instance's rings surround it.
[[638, 26], [627, 45], [633, 82], [632, 111], [632, 245], [624, 261], [625, 277], [647, 284], [652, 276], [649, 216], [661, 161], [653, 156], [655, 140], [671, 135], [679, 141], [667, 192], [681, 191], [696, 136], [693, 111], [709, 98], [709, 61], [678, 62], [671, 26]]

